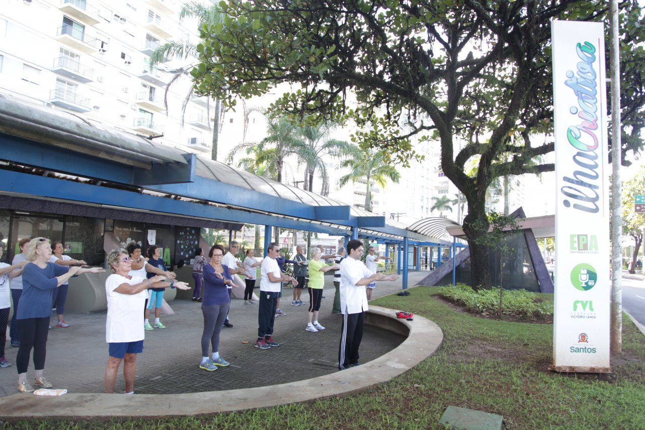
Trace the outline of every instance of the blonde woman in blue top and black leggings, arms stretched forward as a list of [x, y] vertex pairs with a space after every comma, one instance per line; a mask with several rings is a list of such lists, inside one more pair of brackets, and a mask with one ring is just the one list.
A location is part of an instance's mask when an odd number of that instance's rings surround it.
[[99, 267], [64, 267], [50, 263], [52, 246], [46, 238], [32, 239], [26, 246], [26, 258], [30, 263], [23, 269], [23, 294], [16, 321], [20, 333], [20, 347], [16, 356], [18, 368], [18, 391], [28, 393], [34, 387], [27, 382], [29, 356], [34, 349], [34, 385], [50, 388], [52, 384], [43, 377], [49, 317], [52, 314], [54, 291], [72, 276], [81, 273], [101, 273]]

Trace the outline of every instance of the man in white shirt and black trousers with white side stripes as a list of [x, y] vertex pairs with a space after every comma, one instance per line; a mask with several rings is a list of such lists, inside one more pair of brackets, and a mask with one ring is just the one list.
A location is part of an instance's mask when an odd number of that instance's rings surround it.
[[341, 263], [341, 344], [338, 348], [338, 368], [361, 365], [361, 346], [365, 311], [368, 310], [364, 286], [374, 281], [395, 281], [396, 274], [385, 276], [373, 273], [361, 261], [363, 246], [359, 240], [347, 243], [347, 258]]

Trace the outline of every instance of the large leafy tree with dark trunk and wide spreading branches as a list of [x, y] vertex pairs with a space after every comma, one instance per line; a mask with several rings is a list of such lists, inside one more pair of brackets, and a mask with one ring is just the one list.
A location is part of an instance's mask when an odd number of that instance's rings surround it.
[[[363, 147], [406, 164], [413, 142], [441, 145], [441, 168], [468, 202], [464, 232], [473, 286], [490, 287], [477, 238], [487, 223], [486, 189], [508, 175], [554, 169], [550, 23], [599, 21], [600, 0], [254, 0], [222, 1], [224, 22], [204, 25], [192, 70], [195, 89], [223, 100], [291, 85], [271, 109], [294, 120], [351, 119]], [[623, 156], [642, 147], [640, 9], [623, 10]], [[584, 41], [581, 41], [584, 43]], [[639, 84], [640, 83], [640, 84]], [[282, 88], [282, 87], [280, 87]], [[628, 117], [629, 118], [626, 118]], [[640, 118], [642, 120], [642, 118]], [[638, 130], [636, 134], [633, 134]], [[630, 134], [631, 133], [631, 134]], [[531, 139], [542, 135], [541, 139]], [[461, 139], [465, 145], [455, 145]], [[479, 157], [476, 174], [466, 163]]]

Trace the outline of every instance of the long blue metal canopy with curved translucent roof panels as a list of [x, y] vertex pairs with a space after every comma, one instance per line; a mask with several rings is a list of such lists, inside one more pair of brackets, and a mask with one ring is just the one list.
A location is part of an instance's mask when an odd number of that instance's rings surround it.
[[8, 162], [0, 165], [0, 192], [339, 236], [357, 229], [390, 243], [439, 241], [341, 201], [1, 95], [0, 143]]

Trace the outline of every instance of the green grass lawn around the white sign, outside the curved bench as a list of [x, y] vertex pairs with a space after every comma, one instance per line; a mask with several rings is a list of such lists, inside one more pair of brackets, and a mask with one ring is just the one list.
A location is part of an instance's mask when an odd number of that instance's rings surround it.
[[[31, 421], [20, 429], [441, 429], [448, 405], [504, 416], [506, 429], [645, 429], [645, 338], [623, 319], [623, 353], [611, 375], [557, 374], [550, 324], [504, 322], [455, 311], [435, 287], [375, 305], [414, 312], [441, 327], [444, 343], [378, 388], [313, 404], [163, 420]], [[5, 425], [6, 428], [13, 428]]]

